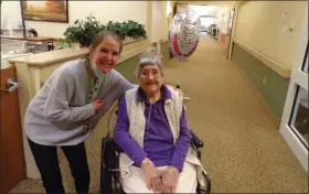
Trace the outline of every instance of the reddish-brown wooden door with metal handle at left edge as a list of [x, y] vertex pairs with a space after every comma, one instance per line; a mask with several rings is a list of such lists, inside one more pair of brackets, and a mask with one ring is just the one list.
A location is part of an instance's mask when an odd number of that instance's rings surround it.
[[25, 179], [19, 85], [13, 65], [1, 67], [0, 194], [7, 194]]

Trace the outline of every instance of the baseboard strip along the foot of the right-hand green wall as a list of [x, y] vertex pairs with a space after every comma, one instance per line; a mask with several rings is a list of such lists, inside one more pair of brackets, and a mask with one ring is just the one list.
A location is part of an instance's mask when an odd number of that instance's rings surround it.
[[259, 93], [259, 90], [255, 87], [255, 85], [251, 82], [251, 79], [245, 74], [245, 72], [242, 69], [242, 67], [237, 63], [233, 63], [233, 64], [238, 68], [238, 71], [241, 72], [242, 76], [247, 80], [247, 85], [249, 86], [249, 88], [254, 93], [254, 95], [257, 97], [259, 104], [263, 106], [264, 110], [269, 116], [269, 118], [270, 118], [271, 122], [274, 123], [274, 126], [276, 127], [276, 129], [279, 129], [280, 118], [278, 118], [275, 115], [275, 112], [273, 111], [273, 109], [270, 108], [268, 103], [265, 100], [265, 98]]

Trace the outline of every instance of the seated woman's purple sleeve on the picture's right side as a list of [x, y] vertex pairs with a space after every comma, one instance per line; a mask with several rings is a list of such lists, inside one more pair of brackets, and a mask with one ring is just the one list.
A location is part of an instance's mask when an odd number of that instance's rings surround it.
[[180, 117], [180, 132], [179, 138], [175, 142], [174, 150], [173, 150], [173, 157], [170, 161], [171, 165], [174, 165], [179, 171], [181, 172], [183, 169], [183, 162], [187, 157], [188, 149], [191, 143], [191, 132], [188, 128], [187, 119], [185, 119], [185, 112], [184, 112], [184, 106], [182, 107], [182, 114]]

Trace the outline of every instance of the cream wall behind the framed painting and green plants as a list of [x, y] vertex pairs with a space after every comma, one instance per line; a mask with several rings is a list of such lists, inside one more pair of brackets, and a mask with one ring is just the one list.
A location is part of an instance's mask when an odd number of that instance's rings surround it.
[[[85, 19], [93, 13], [102, 23], [108, 21], [134, 20], [148, 28], [147, 6], [149, 1], [68, 1], [68, 23], [54, 23], [44, 21], [25, 21], [26, 26], [34, 28], [41, 36], [63, 37], [63, 33], [70, 24], [77, 19]], [[1, 21], [10, 19], [9, 25], [18, 26], [21, 21], [20, 2], [3, 1], [1, 4]], [[7, 25], [7, 24], [6, 24]], [[2, 26], [2, 24], [1, 24]], [[6, 26], [3, 26], [6, 28]], [[52, 29], [52, 30], [51, 30]]]

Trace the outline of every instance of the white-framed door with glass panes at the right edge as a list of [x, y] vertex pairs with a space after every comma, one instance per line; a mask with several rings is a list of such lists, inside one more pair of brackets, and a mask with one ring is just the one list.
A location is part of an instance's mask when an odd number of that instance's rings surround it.
[[[306, 14], [307, 15], [307, 14]], [[303, 25], [296, 64], [280, 122], [280, 133], [308, 173], [308, 21]]]

